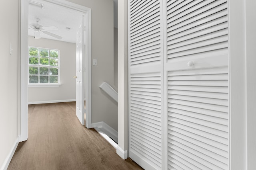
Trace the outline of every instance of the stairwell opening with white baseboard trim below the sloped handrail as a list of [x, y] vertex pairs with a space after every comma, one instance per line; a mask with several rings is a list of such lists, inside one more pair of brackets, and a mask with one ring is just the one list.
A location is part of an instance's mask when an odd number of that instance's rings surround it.
[[118, 132], [110, 127], [108, 124], [105, 122], [97, 122], [97, 123], [92, 123], [91, 127], [94, 127], [100, 135], [102, 135], [113, 147], [117, 147], [118, 143]]

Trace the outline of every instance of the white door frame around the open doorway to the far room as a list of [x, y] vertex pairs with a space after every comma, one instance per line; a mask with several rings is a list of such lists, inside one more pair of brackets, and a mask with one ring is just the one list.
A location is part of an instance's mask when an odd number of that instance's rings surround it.
[[[18, 75], [19, 91], [18, 103], [20, 116], [18, 116], [18, 133], [20, 141], [28, 139], [28, 1], [20, 0], [20, 37], [19, 49], [20, 56], [18, 66], [20, 74]], [[44, 0], [55, 5], [64, 6], [72, 10], [77, 10], [85, 15], [85, 51], [86, 51], [86, 123], [87, 128], [91, 128], [91, 9], [85, 6], [74, 4], [66, 0]]]

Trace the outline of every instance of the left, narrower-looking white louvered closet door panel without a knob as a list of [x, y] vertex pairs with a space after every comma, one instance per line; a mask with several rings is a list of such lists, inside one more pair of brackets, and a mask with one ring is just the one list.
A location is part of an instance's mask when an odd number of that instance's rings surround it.
[[160, 0], [130, 0], [129, 157], [145, 169], [161, 169], [163, 63]]

